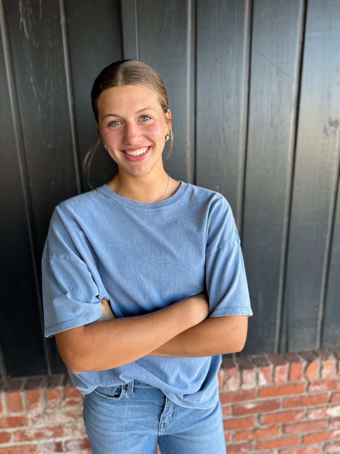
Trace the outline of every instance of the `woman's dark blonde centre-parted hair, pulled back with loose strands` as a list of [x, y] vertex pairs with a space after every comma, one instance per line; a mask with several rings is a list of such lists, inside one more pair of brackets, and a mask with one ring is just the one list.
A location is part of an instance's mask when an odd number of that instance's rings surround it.
[[[157, 99], [160, 103], [160, 108], [162, 109], [165, 118], [165, 122], [167, 124], [170, 123], [169, 133], [171, 145], [170, 151], [165, 158], [168, 159], [172, 150], [173, 135], [171, 120], [169, 120], [165, 116], [168, 111], [169, 104], [165, 86], [163, 84], [162, 78], [157, 73], [157, 71], [155, 71], [155, 69], [151, 68], [147, 64], [142, 63], [141, 61], [130, 59], [115, 61], [114, 63], [109, 64], [101, 71], [100, 74], [98, 74], [93, 83], [91, 91], [92, 110], [94, 117], [96, 118], [97, 133], [100, 134], [97, 107], [99, 96], [106, 89], [109, 89], [111, 87], [123, 87], [126, 85], [138, 85], [140, 87], [151, 90], [157, 95]], [[100, 142], [101, 138], [99, 138], [97, 143], [87, 152], [83, 162], [83, 170], [87, 173], [87, 183], [89, 184], [90, 188], [92, 188], [91, 184], [89, 183], [91, 161]]]

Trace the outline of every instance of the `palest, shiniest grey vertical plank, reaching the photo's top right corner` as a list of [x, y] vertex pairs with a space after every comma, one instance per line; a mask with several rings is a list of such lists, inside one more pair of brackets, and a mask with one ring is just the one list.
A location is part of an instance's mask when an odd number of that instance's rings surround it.
[[308, 1], [284, 297], [289, 351], [320, 345], [339, 178], [339, 42], [340, 2]]

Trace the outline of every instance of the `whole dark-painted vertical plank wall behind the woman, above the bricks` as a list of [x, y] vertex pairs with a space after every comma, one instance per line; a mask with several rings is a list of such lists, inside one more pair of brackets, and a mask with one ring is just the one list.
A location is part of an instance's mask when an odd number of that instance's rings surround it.
[[[107, 183], [90, 91], [107, 64], [162, 76], [173, 178], [221, 192], [254, 315], [239, 355], [340, 346], [340, 0], [0, 0], [0, 374], [65, 371], [44, 337], [54, 207]], [[170, 144], [165, 144], [163, 156]]]

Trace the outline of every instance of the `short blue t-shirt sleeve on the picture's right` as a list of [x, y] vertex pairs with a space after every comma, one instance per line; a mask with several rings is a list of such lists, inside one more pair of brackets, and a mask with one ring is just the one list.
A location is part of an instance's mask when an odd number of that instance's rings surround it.
[[233, 212], [222, 196], [212, 203], [206, 247], [210, 316], [252, 316], [241, 243]]

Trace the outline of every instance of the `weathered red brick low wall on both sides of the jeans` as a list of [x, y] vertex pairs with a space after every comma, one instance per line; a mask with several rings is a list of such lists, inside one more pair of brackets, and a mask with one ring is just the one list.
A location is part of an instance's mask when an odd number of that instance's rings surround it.
[[[219, 383], [228, 454], [340, 453], [340, 349], [223, 360]], [[0, 454], [92, 453], [68, 375], [0, 394]]]

